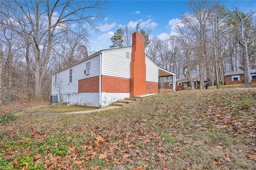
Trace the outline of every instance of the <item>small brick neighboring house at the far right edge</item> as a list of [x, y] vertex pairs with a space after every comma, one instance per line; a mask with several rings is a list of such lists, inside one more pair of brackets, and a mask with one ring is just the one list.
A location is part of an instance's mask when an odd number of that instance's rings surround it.
[[[252, 82], [256, 82], [256, 70], [250, 70]], [[231, 71], [224, 74], [226, 84], [244, 83], [244, 71]]]

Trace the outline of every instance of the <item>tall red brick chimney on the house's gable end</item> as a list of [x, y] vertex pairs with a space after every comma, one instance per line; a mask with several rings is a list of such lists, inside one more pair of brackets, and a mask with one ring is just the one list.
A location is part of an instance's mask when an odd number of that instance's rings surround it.
[[145, 37], [132, 34], [132, 61], [130, 66], [130, 97], [146, 94]]

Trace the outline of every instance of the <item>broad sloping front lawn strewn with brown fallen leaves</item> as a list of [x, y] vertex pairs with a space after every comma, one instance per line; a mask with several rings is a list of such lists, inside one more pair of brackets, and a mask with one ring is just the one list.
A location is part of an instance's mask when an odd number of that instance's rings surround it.
[[255, 90], [183, 90], [100, 113], [15, 115], [0, 124], [0, 169], [256, 169]]

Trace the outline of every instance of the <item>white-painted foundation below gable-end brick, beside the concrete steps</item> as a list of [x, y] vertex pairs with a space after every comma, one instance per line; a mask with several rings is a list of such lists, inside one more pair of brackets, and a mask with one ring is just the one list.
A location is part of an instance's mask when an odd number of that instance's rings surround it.
[[123, 100], [126, 97], [130, 97], [130, 93], [111, 93], [102, 92], [101, 93], [101, 107], [108, 106], [117, 100]]

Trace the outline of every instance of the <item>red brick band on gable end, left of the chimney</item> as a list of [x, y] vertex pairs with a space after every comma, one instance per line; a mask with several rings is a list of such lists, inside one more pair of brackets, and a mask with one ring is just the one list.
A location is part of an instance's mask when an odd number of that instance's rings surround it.
[[101, 75], [101, 92], [129, 93], [130, 79]]

